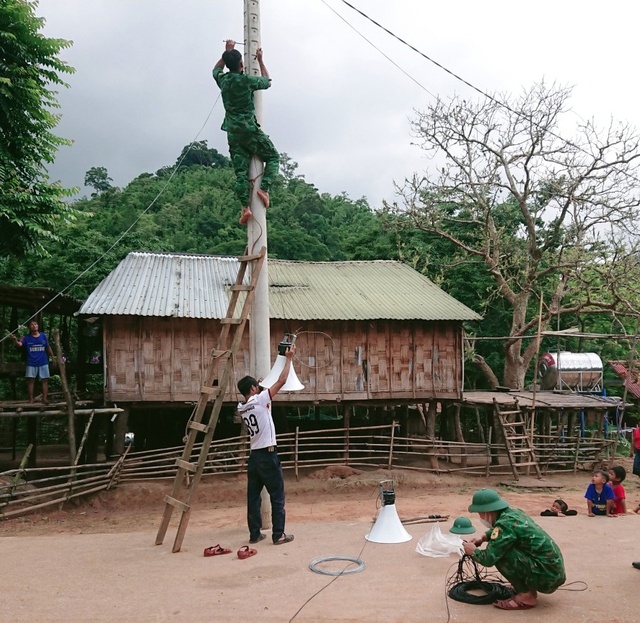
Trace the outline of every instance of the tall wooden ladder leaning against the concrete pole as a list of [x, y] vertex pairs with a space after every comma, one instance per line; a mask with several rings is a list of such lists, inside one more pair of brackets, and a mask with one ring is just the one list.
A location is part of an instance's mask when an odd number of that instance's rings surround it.
[[[236, 282], [231, 286], [231, 299], [229, 300], [229, 308], [227, 309], [227, 315], [220, 319], [220, 336], [218, 337], [218, 343], [211, 352], [211, 359], [209, 362], [209, 371], [207, 373], [204, 385], [200, 389], [200, 398], [194, 409], [193, 415], [187, 425], [188, 434], [185, 439], [185, 446], [182, 452], [182, 456], [176, 459], [176, 467], [178, 468], [175, 480], [173, 482], [173, 488], [171, 493], [165, 496], [164, 514], [162, 516], [162, 522], [158, 529], [156, 536], [156, 545], [162, 545], [169, 522], [171, 521], [171, 515], [173, 509], [177, 508], [182, 512], [180, 518], [180, 524], [178, 526], [178, 532], [176, 539], [173, 543], [173, 552], [179, 552], [182, 547], [182, 541], [187, 531], [187, 525], [189, 523], [189, 517], [191, 515], [191, 499], [193, 498], [200, 477], [204, 471], [205, 464], [207, 462], [207, 456], [209, 454], [209, 448], [211, 446], [211, 440], [213, 439], [213, 433], [218, 423], [218, 416], [222, 409], [224, 402], [224, 396], [229, 381], [233, 378], [233, 356], [240, 347], [242, 342], [242, 334], [244, 327], [249, 316], [249, 310], [251, 309], [251, 303], [255, 293], [256, 283], [258, 276], [262, 270], [266, 256], [266, 247], [262, 247], [260, 253], [257, 255], [249, 255], [248, 250], [245, 249], [245, 255], [238, 258], [240, 263], [238, 269], [238, 275]], [[249, 263], [253, 263], [251, 270], [250, 282], [248, 285], [243, 284], [247, 266]], [[234, 318], [236, 306], [241, 292], [246, 292], [242, 311], [238, 318]], [[233, 330], [232, 330], [233, 327]], [[231, 339], [231, 345], [228, 349], [225, 349], [229, 333], [233, 333]], [[224, 362], [224, 369], [220, 377], [218, 378], [218, 370], [220, 364]], [[208, 422], [203, 421], [207, 404], [209, 400], [213, 399], [213, 408], [211, 409], [211, 415]], [[200, 449], [200, 455], [198, 462], [193, 463], [191, 460], [191, 453], [196, 443], [196, 437], [198, 433], [204, 433], [204, 440]], [[182, 491], [182, 483], [187, 476], [192, 474], [189, 484], [187, 485], [186, 493]], [[184, 499], [180, 500], [178, 497], [181, 492], [184, 494]]]

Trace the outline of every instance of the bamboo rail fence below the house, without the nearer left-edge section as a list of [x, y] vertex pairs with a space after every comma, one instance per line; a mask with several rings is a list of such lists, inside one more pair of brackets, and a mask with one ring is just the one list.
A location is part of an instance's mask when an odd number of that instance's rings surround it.
[[[610, 461], [615, 441], [599, 438], [544, 437], [534, 444], [543, 473], [590, 470]], [[200, 445], [194, 446], [191, 460], [197, 462]], [[148, 478], [174, 478], [175, 460], [182, 446], [133, 452], [125, 461], [122, 481]], [[435, 473], [468, 473], [485, 476], [510, 474], [503, 445], [400, 437], [394, 425], [300, 431], [278, 435], [278, 454], [282, 467], [293, 470], [322, 469], [329, 465], [362, 468], [410, 469]], [[233, 437], [211, 444], [203, 476], [239, 474], [245, 471], [249, 456], [246, 437]]]

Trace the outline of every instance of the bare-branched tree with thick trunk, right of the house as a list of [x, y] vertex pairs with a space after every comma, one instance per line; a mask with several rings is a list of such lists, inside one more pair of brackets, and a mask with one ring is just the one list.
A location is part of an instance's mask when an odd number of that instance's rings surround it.
[[[482, 262], [512, 310], [504, 384], [522, 388], [536, 341], [563, 314], [637, 313], [640, 157], [637, 131], [579, 122], [571, 91], [535, 85], [513, 101], [460, 98], [417, 112], [413, 130], [437, 172], [414, 175], [387, 208]], [[535, 304], [531, 304], [535, 303]], [[497, 376], [475, 359], [492, 385]]]

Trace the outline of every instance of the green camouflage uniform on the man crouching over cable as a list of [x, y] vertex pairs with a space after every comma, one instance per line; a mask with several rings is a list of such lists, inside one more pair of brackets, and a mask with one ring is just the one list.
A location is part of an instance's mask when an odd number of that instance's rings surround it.
[[495, 566], [516, 593], [530, 590], [553, 593], [564, 584], [564, 561], [551, 537], [518, 508], [505, 508], [487, 531], [486, 549], [473, 558], [485, 567]]

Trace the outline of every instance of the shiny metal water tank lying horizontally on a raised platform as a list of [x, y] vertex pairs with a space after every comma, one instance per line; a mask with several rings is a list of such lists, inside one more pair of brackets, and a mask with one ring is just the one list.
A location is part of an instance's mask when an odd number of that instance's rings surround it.
[[538, 364], [541, 389], [588, 391], [602, 387], [602, 359], [596, 353], [545, 353]]

